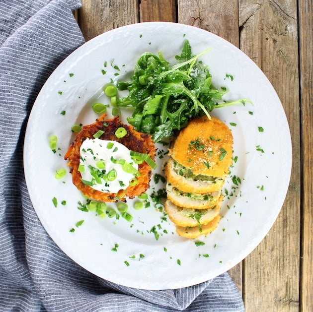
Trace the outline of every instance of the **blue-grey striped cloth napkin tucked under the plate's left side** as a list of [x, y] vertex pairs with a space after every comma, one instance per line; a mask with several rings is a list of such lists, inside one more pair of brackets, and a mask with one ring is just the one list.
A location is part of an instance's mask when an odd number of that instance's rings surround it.
[[72, 13], [79, 6], [0, 0], [0, 311], [244, 311], [227, 273], [163, 291], [94, 276], [55, 245], [37, 218], [23, 173], [25, 127], [45, 80], [84, 43]]

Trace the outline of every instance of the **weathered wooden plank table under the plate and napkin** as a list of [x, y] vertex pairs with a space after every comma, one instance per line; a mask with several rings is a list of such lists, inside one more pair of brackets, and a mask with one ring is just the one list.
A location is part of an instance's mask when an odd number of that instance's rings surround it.
[[312, 312], [312, 0], [82, 0], [75, 14], [86, 41], [145, 21], [200, 27], [239, 47], [263, 70], [288, 118], [292, 175], [274, 226], [230, 274], [248, 312]]

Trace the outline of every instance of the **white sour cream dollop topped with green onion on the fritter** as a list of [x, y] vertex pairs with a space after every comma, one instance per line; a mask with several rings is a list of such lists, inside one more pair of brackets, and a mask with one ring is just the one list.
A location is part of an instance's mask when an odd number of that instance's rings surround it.
[[117, 141], [86, 138], [80, 146], [81, 181], [102, 192], [126, 189], [138, 174], [131, 151]]

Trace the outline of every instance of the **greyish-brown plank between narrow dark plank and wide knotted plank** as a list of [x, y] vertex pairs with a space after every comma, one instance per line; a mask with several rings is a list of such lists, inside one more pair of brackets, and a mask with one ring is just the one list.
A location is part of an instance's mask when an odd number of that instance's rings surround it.
[[[178, 22], [210, 31], [239, 45], [237, 0], [178, 0]], [[229, 270], [242, 294], [242, 263]]]

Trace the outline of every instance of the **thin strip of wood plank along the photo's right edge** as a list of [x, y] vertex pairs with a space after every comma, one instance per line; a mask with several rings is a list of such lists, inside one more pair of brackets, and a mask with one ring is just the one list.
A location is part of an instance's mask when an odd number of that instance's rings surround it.
[[302, 270], [301, 311], [313, 311], [313, 4], [299, 1], [302, 111]]

